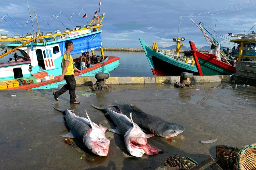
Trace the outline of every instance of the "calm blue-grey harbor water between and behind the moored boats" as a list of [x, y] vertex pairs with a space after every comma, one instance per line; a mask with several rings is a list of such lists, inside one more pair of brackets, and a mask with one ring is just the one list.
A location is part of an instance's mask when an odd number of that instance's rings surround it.
[[[92, 55], [90, 53], [90, 55]], [[100, 51], [95, 51], [95, 55], [101, 55]], [[133, 51], [104, 51], [105, 56], [117, 56], [120, 58], [118, 68], [110, 72], [113, 77], [124, 76], [153, 76], [148, 59], [144, 52]], [[77, 58], [80, 55], [72, 55]], [[7, 62], [13, 55], [8, 55], [0, 59], [0, 62]]]

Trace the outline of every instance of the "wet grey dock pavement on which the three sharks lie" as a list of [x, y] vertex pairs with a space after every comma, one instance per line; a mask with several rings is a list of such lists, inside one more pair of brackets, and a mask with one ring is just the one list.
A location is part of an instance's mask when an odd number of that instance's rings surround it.
[[[215, 155], [216, 145], [241, 148], [256, 143], [256, 88], [228, 83], [195, 84], [193, 89], [173, 85], [112, 85], [111, 92], [91, 92], [77, 87], [79, 105], [69, 104], [66, 92], [54, 100], [52, 90], [0, 91], [0, 169], [155, 169], [173, 154], [197, 162]], [[16, 96], [12, 96], [16, 95]], [[164, 150], [157, 156], [135, 158], [125, 149], [122, 137], [107, 131], [107, 157], [93, 155], [82, 143], [66, 144], [62, 114], [52, 108], [75, 108], [74, 113], [113, 127], [96, 106], [132, 103], [144, 112], [182, 125], [177, 137], [151, 137], [148, 144]], [[107, 107], [107, 106], [105, 106]], [[200, 141], [218, 139], [214, 143]]]

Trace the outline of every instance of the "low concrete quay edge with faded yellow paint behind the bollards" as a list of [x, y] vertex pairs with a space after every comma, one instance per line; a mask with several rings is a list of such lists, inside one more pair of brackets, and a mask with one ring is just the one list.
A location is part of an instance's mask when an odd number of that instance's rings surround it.
[[[232, 75], [218, 75], [218, 76], [194, 76], [188, 78], [187, 83], [207, 83], [207, 82], [229, 82]], [[90, 85], [95, 84], [95, 77], [77, 76], [76, 84]], [[150, 76], [150, 77], [109, 77], [106, 79], [106, 84], [155, 84], [155, 83], [176, 83], [180, 82], [180, 76]]]

